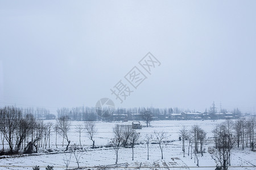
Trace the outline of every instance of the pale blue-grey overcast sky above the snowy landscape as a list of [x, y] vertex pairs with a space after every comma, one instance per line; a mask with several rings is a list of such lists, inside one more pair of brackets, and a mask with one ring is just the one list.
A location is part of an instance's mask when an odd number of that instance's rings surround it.
[[[256, 1], [0, 1], [0, 106], [256, 107]], [[129, 97], [110, 88], [148, 53]], [[142, 70], [141, 71], [145, 71]]]

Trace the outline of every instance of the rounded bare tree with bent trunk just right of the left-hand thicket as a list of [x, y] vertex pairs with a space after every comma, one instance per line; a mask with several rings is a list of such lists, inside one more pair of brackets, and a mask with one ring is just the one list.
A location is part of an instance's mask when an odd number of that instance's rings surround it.
[[67, 116], [62, 116], [57, 119], [57, 126], [58, 126], [58, 133], [63, 137], [63, 139], [66, 139], [68, 142], [68, 145], [66, 147], [66, 151], [68, 150], [69, 146], [69, 139], [68, 139], [68, 131], [70, 129], [71, 122], [68, 120]]

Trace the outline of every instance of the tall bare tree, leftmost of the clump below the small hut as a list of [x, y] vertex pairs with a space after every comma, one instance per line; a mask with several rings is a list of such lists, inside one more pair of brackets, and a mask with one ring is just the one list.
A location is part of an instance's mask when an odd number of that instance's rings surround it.
[[115, 125], [113, 128], [114, 137], [111, 139], [111, 144], [114, 148], [115, 155], [117, 156], [115, 159], [115, 164], [118, 162], [118, 151], [121, 147], [122, 141], [123, 141], [123, 129], [121, 126]]

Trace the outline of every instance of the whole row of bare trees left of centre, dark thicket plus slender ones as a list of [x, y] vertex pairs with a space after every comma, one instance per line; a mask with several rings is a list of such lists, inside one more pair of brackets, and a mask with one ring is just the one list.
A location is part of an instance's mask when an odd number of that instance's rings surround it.
[[[36, 120], [33, 114], [23, 114], [22, 109], [13, 106], [7, 106], [0, 109], [0, 136], [2, 143], [2, 154], [16, 154], [24, 149], [25, 153], [38, 151], [38, 148], [50, 147], [51, 133], [55, 131], [56, 139], [55, 145], [57, 147], [57, 134], [67, 141], [66, 150], [70, 144], [68, 138], [68, 131], [71, 128], [71, 122], [67, 117], [63, 116], [57, 119], [56, 124], [53, 122], [44, 123], [43, 121]], [[94, 148], [94, 135], [97, 133], [96, 125], [93, 122], [88, 122], [84, 126], [77, 125], [76, 131], [80, 133], [80, 146], [81, 146], [81, 133], [86, 132], [86, 135], [93, 142]], [[5, 148], [5, 143], [8, 148]], [[5, 152], [7, 150], [7, 152]]]

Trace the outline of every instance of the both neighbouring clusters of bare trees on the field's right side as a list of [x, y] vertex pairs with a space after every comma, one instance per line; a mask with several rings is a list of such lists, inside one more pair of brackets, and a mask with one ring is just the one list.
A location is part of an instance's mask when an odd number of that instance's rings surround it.
[[[221, 124], [218, 124], [212, 130], [213, 138], [206, 138], [206, 133], [198, 125], [193, 125], [191, 129], [183, 126], [180, 129], [180, 140], [182, 142], [182, 151], [185, 156], [185, 141], [188, 143], [188, 155], [189, 151], [192, 155], [195, 155], [195, 162], [199, 166], [199, 158], [197, 154], [205, 152], [204, 144], [211, 142], [213, 139], [214, 147], [209, 147], [208, 152], [212, 154], [216, 163], [220, 165], [222, 169], [228, 169], [231, 164], [230, 156], [231, 151], [235, 145], [237, 147], [250, 147], [254, 150], [254, 133], [255, 133], [255, 117], [241, 118], [238, 120], [226, 120]], [[193, 148], [193, 151], [192, 151]]]

